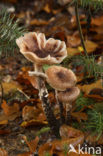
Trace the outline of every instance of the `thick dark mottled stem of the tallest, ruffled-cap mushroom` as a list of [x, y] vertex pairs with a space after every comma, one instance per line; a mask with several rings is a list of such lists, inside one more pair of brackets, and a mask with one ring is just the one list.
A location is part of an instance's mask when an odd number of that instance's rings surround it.
[[[39, 66], [38, 64], [34, 65], [34, 69], [36, 72], [42, 72], [42, 66]], [[46, 115], [48, 124], [49, 124], [53, 134], [59, 138], [60, 137], [60, 134], [59, 134], [60, 125], [51, 109], [50, 102], [48, 99], [48, 91], [45, 87], [44, 78], [37, 77], [37, 81], [38, 81], [39, 97], [40, 97], [40, 100], [42, 101], [43, 111]]]

